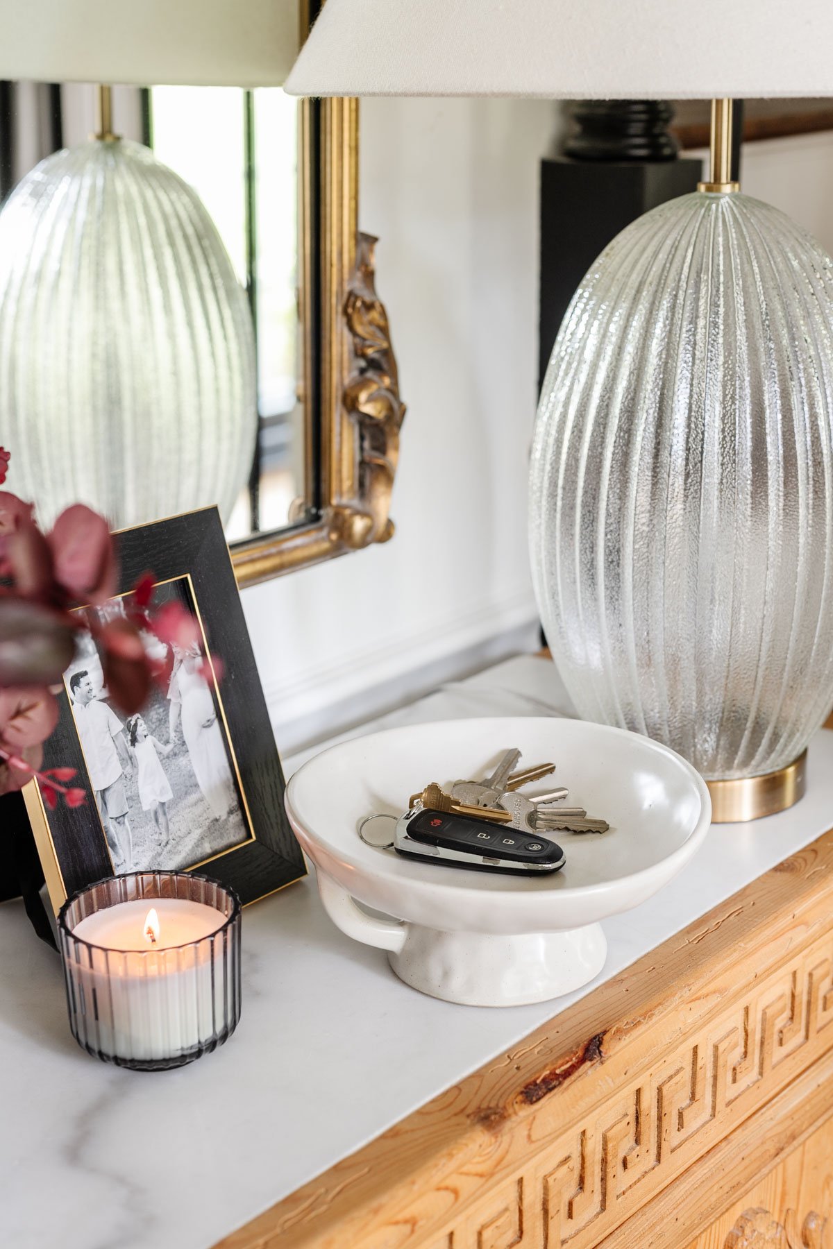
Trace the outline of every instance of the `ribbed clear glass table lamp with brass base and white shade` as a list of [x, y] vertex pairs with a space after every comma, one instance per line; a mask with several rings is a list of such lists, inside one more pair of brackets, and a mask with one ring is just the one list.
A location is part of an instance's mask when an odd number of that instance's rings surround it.
[[833, 704], [833, 261], [729, 175], [729, 95], [833, 95], [809, 0], [327, 0], [305, 95], [713, 97], [711, 171], [591, 267], [546, 375], [532, 572], [579, 713], [704, 776], [714, 818], [803, 793]]

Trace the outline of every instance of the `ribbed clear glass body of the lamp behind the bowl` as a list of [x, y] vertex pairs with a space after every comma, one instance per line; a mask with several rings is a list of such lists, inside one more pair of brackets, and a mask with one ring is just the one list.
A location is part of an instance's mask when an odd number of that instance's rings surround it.
[[833, 261], [687, 195], [582, 281], [541, 395], [531, 555], [586, 719], [707, 779], [782, 769], [833, 704]]

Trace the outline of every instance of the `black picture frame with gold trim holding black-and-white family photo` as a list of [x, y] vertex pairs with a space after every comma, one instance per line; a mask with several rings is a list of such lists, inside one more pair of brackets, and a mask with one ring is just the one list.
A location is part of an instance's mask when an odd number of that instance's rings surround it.
[[[71, 769], [81, 801], [49, 802], [37, 781], [24, 791], [50, 901], [57, 913], [95, 881], [196, 869], [254, 902], [306, 868], [219, 512], [114, 537], [117, 593], [80, 608], [89, 629], [44, 747], [44, 769]], [[137, 586], [142, 602], [149, 595], [154, 628], [137, 627], [155, 679], [125, 714], [109, 697], [94, 634], [141, 618]], [[166, 612], [180, 623], [160, 629]]]

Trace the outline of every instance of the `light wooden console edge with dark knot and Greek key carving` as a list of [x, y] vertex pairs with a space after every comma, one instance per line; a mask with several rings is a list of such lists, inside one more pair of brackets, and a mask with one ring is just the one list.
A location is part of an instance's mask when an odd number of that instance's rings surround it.
[[832, 872], [833, 832], [222, 1249], [612, 1249], [654, 1199], [686, 1243], [733, 1133], [762, 1174], [833, 1113]]

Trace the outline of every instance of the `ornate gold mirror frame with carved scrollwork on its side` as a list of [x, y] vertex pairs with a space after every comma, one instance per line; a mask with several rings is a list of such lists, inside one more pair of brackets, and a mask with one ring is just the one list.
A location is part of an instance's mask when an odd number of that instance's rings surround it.
[[371, 235], [358, 234], [358, 101], [301, 101], [298, 311], [305, 498], [290, 527], [232, 546], [241, 586], [393, 533], [405, 416]]

